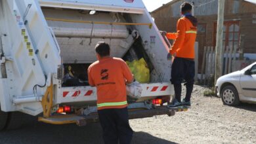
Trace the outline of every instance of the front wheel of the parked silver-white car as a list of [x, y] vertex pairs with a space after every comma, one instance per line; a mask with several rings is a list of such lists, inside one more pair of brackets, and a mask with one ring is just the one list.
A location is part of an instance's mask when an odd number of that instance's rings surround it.
[[240, 104], [238, 91], [234, 86], [225, 86], [221, 91], [221, 99], [224, 105], [235, 106]]

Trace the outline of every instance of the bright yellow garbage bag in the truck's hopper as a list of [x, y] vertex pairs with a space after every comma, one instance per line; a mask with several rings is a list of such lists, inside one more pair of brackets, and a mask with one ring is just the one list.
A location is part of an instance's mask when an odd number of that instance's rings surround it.
[[136, 81], [140, 83], [150, 82], [150, 71], [144, 58], [140, 58], [140, 60], [133, 60], [133, 62], [126, 63], [129, 66], [131, 72], [133, 73]]

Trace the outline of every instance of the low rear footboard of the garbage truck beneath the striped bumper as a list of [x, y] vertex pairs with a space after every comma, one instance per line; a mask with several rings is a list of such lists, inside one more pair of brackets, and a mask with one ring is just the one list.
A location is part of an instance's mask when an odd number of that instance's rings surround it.
[[[169, 117], [175, 115], [175, 109], [168, 109], [165, 106], [158, 106], [154, 109], [129, 109], [129, 119], [147, 118], [157, 115], [168, 115]], [[98, 114], [91, 113], [87, 116], [77, 115], [54, 115], [49, 118], [38, 118], [39, 122], [48, 124], [77, 124], [78, 126], [85, 126], [88, 123], [98, 122]]]

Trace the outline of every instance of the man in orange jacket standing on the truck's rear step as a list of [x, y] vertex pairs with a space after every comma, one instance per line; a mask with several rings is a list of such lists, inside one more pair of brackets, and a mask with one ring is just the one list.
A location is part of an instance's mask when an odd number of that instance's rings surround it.
[[[174, 85], [175, 99], [168, 107], [179, 107], [181, 105], [190, 106], [190, 98], [194, 86], [195, 76], [195, 52], [198, 20], [192, 16], [192, 5], [182, 3], [181, 18], [177, 22], [177, 33], [167, 33], [168, 39], [175, 39], [169, 53], [173, 56], [171, 66], [171, 82]], [[186, 97], [181, 101], [181, 83], [185, 80]]]

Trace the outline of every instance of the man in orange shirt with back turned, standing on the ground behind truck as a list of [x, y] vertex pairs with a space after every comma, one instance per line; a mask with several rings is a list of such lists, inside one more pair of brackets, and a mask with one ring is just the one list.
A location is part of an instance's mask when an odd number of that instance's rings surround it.
[[104, 143], [131, 143], [125, 83], [133, 82], [133, 74], [121, 58], [110, 57], [110, 46], [99, 42], [95, 47], [98, 61], [88, 68], [89, 84], [96, 86], [98, 117]]

